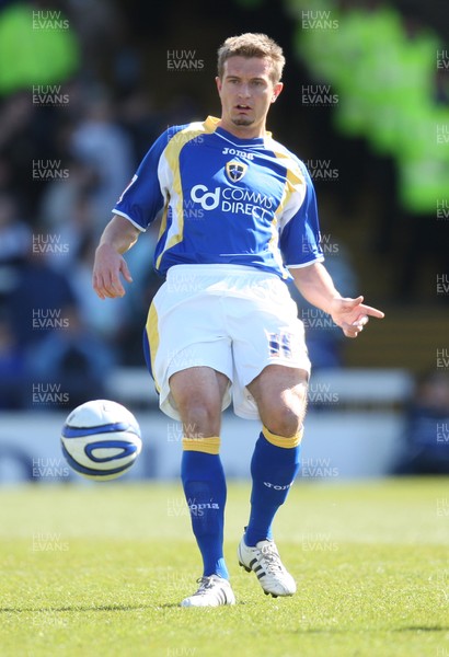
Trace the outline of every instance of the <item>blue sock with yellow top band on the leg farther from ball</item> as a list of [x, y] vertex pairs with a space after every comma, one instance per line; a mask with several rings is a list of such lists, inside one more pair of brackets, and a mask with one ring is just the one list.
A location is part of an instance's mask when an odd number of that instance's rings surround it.
[[302, 429], [283, 438], [264, 427], [255, 443], [251, 461], [253, 486], [251, 515], [245, 532], [246, 545], [272, 539], [276, 511], [287, 498], [300, 464]]

